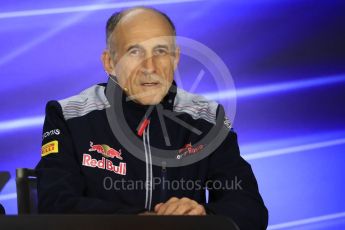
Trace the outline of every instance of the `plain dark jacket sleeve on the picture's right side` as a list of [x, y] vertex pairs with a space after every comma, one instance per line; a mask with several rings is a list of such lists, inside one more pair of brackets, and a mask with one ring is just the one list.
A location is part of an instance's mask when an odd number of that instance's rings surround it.
[[208, 180], [205, 208], [209, 214], [230, 217], [241, 230], [267, 228], [268, 211], [251, 166], [240, 156], [232, 129], [210, 156]]

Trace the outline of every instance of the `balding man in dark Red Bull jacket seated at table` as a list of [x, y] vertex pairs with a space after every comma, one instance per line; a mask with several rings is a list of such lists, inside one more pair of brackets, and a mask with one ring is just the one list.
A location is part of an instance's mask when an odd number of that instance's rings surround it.
[[[219, 123], [216, 117], [221, 106], [176, 87], [173, 76], [180, 50], [175, 35], [171, 20], [151, 8], [131, 8], [108, 20], [107, 49], [102, 55], [110, 76], [108, 85], [95, 85], [47, 104], [42, 158], [37, 165], [40, 212], [216, 214], [231, 217], [241, 229], [266, 228], [266, 207], [250, 165], [240, 156], [236, 134], [223, 124], [226, 118], [220, 124], [227, 130], [225, 140], [205, 158], [182, 163], [201, 154], [204, 145], [195, 143], [205, 136], [201, 132], [210, 132]], [[106, 96], [110, 84], [116, 84], [123, 95], [114, 105], [110, 103], [113, 98]], [[178, 113], [184, 125], [162, 118], [158, 107]], [[141, 143], [144, 160], [119, 140], [123, 137], [119, 137], [120, 129], [111, 129], [109, 109], [122, 110], [130, 134]], [[200, 133], [196, 135], [190, 126]], [[167, 136], [171, 137], [169, 146]], [[154, 147], [161, 152], [175, 149], [174, 160], [181, 162], [181, 167], [169, 167], [165, 161], [161, 166], [153, 163]], [[153, 185], [155, 178], [160, 182], [198, 182], [201, 188]], [[239, 188], [213, 189], [207, 183], [232, 180], [241, 182]], [[133, 181], [136, 186], [124, 186]], [[137, 186], [137, 182], [146, 186]]]

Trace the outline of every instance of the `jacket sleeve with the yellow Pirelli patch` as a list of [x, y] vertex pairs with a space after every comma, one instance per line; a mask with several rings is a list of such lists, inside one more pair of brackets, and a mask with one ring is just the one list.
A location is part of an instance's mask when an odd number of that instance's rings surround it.
[[138, 208], [85, 196], [85, 178], [73, 140], [57, 101], [48, 102], [41, 160], [36, 166], [39, 213], [135, 214]]

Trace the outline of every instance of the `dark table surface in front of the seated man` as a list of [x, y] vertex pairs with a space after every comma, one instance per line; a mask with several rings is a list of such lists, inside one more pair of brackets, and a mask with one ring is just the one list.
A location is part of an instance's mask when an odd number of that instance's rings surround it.
[[221, 216], [137, 216], [137, 215], [4, 215], [1, 229], [150, 229], [150, 230], [236, 230]]

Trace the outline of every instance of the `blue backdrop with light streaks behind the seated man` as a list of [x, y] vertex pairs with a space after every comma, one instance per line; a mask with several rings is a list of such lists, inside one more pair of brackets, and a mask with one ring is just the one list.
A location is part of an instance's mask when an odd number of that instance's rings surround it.
[[[138, 3], [139, 2], [139, 3]], [[16, 213], [15, 168], [35, 167], [45, 103], [105, 82], [104, 27], [117, 9], [156, 7], [177, 33], [224, 61], [237, 89], [234, 128], [271, 229], [345, 229], [343, 1], [26, 0], [0, 2], [0, 193]], [[182, 58], [189, 90], [199, 63]], [[216, 91], [203, 76], [196, 92]], [[222, 103], [231, 94], [224, 89]]]

